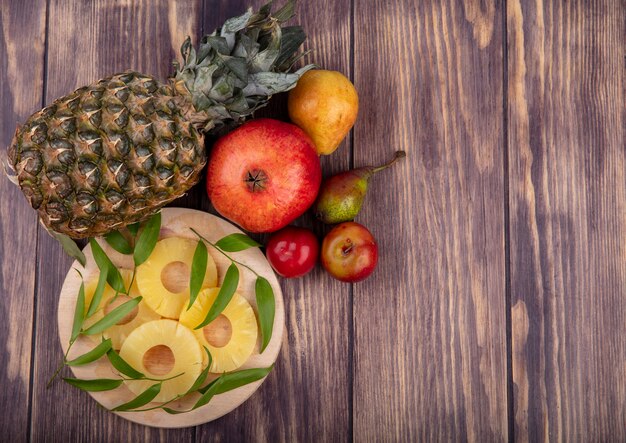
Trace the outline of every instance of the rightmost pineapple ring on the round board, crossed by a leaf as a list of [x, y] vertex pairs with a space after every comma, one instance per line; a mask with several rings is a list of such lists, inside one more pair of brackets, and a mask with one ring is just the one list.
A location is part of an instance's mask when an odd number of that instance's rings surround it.
[[[180, 314], [180, 323], [194, 329], [206, 318], [219, 288], [204, 289], [187, 310]], [[194, 330], [202, 346], [206, 346], [213, 357], [211, 372], [229, 372], [243, 365], [252, 355], [257, 340], [257, 323], [250, 303], [235, 293], [222, 313], [202, 329]], [[208, 361], [204, 354], [203, 365]]]

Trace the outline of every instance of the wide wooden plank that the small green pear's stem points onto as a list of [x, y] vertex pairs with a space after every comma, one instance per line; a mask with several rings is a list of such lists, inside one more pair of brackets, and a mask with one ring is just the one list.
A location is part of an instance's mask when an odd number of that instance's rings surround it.
[[408, 153], [356, 219], [356, 441], [507, 438], [501, 7], [355, 0], [355, 165]]

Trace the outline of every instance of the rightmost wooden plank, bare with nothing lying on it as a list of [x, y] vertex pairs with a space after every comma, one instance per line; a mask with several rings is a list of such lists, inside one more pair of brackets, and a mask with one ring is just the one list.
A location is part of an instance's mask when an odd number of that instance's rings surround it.
[[516, 441], [626, 440], [625, 23], [507, 4]]

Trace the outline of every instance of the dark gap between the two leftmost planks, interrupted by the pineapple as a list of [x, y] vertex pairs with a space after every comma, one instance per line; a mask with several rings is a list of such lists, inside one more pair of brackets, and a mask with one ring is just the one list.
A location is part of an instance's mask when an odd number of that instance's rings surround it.
[[[46, 92], [48, 83], [48, 30], [50, 24], [50, 0], [46, 0], [46, 19], [44, 25], [44, 46], [43, 46], [43, 82], [41, 88], [41, 107], [46, 106]], [[28, 435], [26, 436], [30, 443], [33, 439], [33, 401], [35, 393], [35, 359], [37, 356], [37, 302], [39, 293], [39, 229], [35, 229], [35, 284], [33, 290], [33, 333], [30, 342], [30, 372], [28, 377]]]

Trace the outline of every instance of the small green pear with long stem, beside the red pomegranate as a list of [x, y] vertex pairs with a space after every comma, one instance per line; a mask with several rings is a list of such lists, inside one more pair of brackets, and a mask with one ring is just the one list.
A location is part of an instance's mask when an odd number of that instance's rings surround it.
[[406, 157], [406, 152], [396, 151], [394, 158], [381, 166], [364, 166], [333, 175], [320, 188], [313, 206], [315, 216], [324, 223], [335, 224], [354, 220], [367, 194], [367, 185], [372, 175], [387, 169], [396, 161]]

